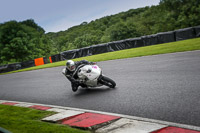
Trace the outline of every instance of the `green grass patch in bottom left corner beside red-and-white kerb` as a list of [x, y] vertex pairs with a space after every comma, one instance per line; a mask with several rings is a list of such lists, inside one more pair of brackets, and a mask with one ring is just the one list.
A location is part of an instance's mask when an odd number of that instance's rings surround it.
[[61, 124], [41, 121], [54, 114], [30, 108], [0, 105], [0, 127], [13, 133], [89, 133]]

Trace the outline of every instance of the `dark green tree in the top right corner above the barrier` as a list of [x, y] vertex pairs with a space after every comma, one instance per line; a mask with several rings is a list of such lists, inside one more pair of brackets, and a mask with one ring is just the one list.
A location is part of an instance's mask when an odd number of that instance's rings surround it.
[[197, 26], [200, 24], [199, 0], [161, 0], [160, 7], [167, 10], [171, 18], [174, 18], [175, 29]]

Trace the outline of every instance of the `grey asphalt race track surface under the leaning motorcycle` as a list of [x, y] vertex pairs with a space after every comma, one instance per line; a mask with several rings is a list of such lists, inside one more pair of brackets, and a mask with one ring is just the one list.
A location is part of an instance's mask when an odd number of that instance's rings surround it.
[[63, 67], [0, 75], [0, 99], [200, 126], [200, 51], [98, 62], [117, 87], [72, 92]]

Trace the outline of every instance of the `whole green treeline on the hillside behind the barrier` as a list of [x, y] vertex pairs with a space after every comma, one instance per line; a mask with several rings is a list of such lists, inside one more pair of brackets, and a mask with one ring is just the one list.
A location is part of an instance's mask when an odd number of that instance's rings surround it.
[[0, 24], [0, 61], [21, 62], [59, 52], [200, 25], [200, 0], [161, 0], [159, 5], [130, 9], [83, 22], [66, 31], [47, 33], [34, 20]]

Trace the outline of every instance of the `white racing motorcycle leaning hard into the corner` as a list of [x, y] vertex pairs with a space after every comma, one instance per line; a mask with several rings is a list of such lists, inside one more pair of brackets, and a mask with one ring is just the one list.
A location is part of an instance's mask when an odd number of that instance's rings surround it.
[[115, 88], [116, 86], [115, 81], [104, 76], [101, 68], [97, 65], [80, 66], [74, 73], [77, 73], [79, 82], [87, 87], [99, 87], [105, 85], [110, 88]]

